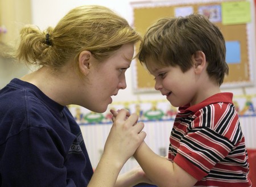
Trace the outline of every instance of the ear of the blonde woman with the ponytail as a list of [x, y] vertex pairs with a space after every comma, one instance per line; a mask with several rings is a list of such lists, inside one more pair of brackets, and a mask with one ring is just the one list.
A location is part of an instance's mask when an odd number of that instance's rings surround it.
[[84, 75], [88, 74], [90, 69], [91, 59], [92, 59], [92, 53], [90, 53], [88, 50], [83, 50], [79, 54], [79, 69], [82, 74]]

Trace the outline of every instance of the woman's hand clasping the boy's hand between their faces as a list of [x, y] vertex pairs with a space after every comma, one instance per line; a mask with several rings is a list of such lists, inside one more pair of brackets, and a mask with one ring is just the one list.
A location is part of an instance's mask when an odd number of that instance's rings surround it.
[[125, 164], [146, 137], [142, 131], [144, 124], [138, 122], [137, 114], [130, 115], [125, 109], [110, 112], [113, 113], [113, 126], [106, 140], [104, 154], [110, 154], [113, 159]]

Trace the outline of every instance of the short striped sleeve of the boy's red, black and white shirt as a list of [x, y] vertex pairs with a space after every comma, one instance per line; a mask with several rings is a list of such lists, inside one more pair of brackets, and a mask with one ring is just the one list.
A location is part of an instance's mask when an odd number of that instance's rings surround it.
[[197, 180], [201, 180], [232, 148], [228, 139], [212, 129], [193, 129], [193, 133], [181, 139], [174, 162]]

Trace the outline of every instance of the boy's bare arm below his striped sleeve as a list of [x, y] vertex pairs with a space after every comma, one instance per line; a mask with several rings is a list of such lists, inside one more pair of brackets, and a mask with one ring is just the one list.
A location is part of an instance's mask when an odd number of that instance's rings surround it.
[[197, 180], [179, 165], [156, 155], [145, 142], [138, 147], [134, 158], [157, 186], [193, 186]]

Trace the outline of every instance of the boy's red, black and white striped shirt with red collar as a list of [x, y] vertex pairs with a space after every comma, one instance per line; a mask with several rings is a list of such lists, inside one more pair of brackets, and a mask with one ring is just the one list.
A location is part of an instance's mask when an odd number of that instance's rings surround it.
[[195, 177], [195, 186], [251, 186], [249, 163], [232, 93], [179, 108], [168, 158]]

